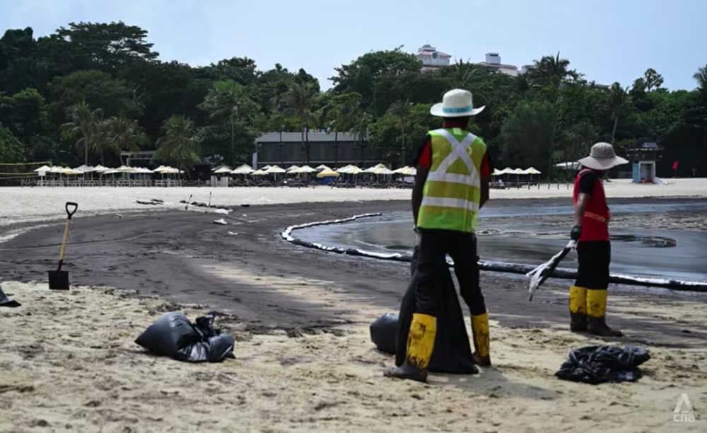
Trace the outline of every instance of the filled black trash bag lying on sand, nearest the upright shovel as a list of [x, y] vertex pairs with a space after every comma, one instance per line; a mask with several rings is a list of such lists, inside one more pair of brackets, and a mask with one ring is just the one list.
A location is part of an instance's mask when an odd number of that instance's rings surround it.
[[183, 362], [221, 362], [233, 358], [235, 340], [214, 328], [214, 313], [189, 322], [182, 313], [168, 313], [135, 340], [153, 354]]

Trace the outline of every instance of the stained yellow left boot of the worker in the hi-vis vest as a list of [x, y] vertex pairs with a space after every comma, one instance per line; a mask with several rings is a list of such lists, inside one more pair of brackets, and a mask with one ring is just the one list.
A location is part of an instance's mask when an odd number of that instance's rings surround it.
[[414, 313], [407, 335], [407, 357], [399, 367], [386, 369], [383, 374], [396, 379], [427, 381], [427, 366], [435, 347], [437, 319], [427, 314]]

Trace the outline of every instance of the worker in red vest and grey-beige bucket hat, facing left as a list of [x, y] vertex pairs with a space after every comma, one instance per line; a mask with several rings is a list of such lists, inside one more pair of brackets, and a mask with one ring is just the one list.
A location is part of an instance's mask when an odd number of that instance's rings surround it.
[[606, 322], [609, 263], [609, 205], [604, 195], [602, 175], [614, 166], [628, 163], [614, 153], [609, 143], [592, 146], [590, 156], [578, 161], [583, 168], [575, 178], [575, 207], [570, 236], [577, 241], [577, 280], [570, 288], [570, 329], [605, 337], [619, 337], [621, 331]]

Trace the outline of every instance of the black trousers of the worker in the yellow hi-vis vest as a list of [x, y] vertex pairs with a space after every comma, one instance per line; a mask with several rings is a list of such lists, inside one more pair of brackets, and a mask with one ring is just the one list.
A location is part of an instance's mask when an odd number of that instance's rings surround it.
[[486, 312], [484, 295], [479, 287], [477, 237], [473, 233], [451, 230], [421, 230], [417, 259], [417, 285], [415, 288], [416, 313], [436, 317], [440, 296], [440, 281], [448, 266], [446, 255], [454, 260], [454, 273], [459, 282], [459, 292], [469, 306], [472, 316]]

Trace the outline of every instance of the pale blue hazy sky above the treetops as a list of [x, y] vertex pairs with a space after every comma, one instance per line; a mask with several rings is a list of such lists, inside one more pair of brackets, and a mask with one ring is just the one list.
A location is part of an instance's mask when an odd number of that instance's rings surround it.
[[163, 60], [247, 56], [259, 69], [303, 67], [322, 88], [365, 52], [429, 43], [455, 59], [498, 52], [518, 66], [559, 51], [597, 83], [627, 86], [653, 67], [666, 87], [692, 89], [707, 64], [705, 17], [707, 0], [0, 0], [3, 32], [122, 20], [148, 30]]

